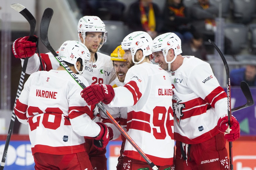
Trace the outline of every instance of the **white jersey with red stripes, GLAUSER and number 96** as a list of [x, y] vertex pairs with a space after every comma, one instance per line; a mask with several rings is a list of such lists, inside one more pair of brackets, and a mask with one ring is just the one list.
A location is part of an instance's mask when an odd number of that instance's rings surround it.
[[[126, 73], [125, 86], [114, 88], [110, 107], [128, 107], [127, 133], [156, 165], [172, 165], [174, 155], [172, 85], [158, 65], [141, 63]], [[126, 140], [124, 155], [144, 161]]]

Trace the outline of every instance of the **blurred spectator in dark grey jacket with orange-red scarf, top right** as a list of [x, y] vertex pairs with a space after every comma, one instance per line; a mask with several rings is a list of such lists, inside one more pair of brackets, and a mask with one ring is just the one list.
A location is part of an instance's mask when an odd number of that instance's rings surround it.
[[[203, 34], [204, 41], [211, 39], [214, 41], [216, 32], [216, 22], [219, 10], [216, 6], [211, 4], [209, 0], [198, 0], [197, 3], [190, 7], [191, 24], [197, 32]], [[232, 54], [231, 41], [227, 37], [224, 38], [225, 54]]]

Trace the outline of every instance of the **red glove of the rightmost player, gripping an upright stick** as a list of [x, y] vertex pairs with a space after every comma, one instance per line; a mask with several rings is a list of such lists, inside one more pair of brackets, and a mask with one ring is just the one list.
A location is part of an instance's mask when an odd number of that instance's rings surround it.
[[232, 142], [238, 138], [240, 138], [240, 126], [239, 122], [235, 119], [235, 117], [232, 115], [232, 119], [230, 120], [231, 127], [228, 125], [228, 115], [223, 115], [218, 120], [218, 129], [219, 131], [223, 132], [225, 134], [225, 138]]

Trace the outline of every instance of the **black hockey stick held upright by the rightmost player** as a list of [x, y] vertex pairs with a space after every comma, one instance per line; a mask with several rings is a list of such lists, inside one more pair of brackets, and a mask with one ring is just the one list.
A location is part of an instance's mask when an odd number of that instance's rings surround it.
[[[230, 74], [229, 74], [229, 68], [228, 68], [228, 63], [224, 57], [224, 55], [222, 54], [221, 50], [216, 46], [216, 44], [214, 44], [213, 41], [211, 41], [210, 39], [208, 40], [213, 46], [214, 48], [218, 51], [219, 55], [221, 56], [221, 59], [224, 63], [225, 66], [225, 70], [226, 70], [226, 76], [227, 76], [227, 98], [228, 98], [228, 125], [229, 127], [231, 127], [231, 122], [230, 122], [230, 118], [232, 116], [231, 113], [231, 93], [230, 93]], [[230, 170], [233, 170], [233, 150], [232, 150], [232, 142], [228, 142], [229, 144], [229, 164], [230, 164]]]

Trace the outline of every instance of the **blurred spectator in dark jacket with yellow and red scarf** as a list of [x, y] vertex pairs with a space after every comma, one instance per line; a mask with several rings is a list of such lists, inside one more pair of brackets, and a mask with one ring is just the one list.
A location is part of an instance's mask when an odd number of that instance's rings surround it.
[[131, 4], [126, 20], [132, 32], [145, 31], [152, 39], [162, 29], [161, 11], [152, 0], [138, 0]]

